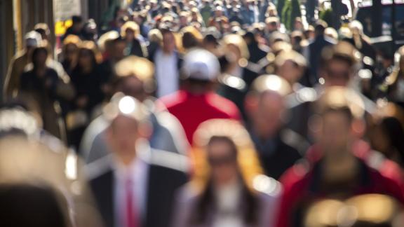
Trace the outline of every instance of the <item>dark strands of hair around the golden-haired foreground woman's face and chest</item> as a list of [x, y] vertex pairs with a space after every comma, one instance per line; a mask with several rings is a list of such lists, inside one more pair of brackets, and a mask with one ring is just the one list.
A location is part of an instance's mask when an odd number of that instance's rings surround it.
[[[234, 156], [237, 156], [238, 150], [236, 148], [236, 144], [229, 139], [228, 137], [212, 137], [208, 144], [213, 144], [214, 142], [227, 142], [232, 147], [232, 151], [234, 152]], [[257, 210], [259, 209], [259, 201], [257, 197], [250, 191], [248, 186], [245, 184], [245, 181], [241, 177], [241, 172], [239, 172], [239, 177], [241, 179], [241, 184], [243, 187], [242, 190], [242, 200], [241, 204], [243, 207], [243, 221], [248, 223], [249, 225], [254, 226], [257, 223]], [[205, 190], [201, 194], [201, 197], [196, 202], [195, 211], [193, 212], [193, 216], [191, 217], [191, 224], [203, 224], [206, 222], [208, 217], [208, 213], [213, 209], [215, 210], [216, 202], [215, 196], [213, 192], [213, 181], [212, 179], [208, 180], [208, 184], [206, 185]]]

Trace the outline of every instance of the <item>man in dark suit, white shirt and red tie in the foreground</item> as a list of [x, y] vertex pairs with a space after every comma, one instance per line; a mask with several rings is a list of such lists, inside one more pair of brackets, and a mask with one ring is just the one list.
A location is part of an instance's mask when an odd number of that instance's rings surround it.
[[175, 191], [187, 182], [187, 156], [150, 148], [147, 109], [133, 97], [114, 95], [105, 116], [111, 153], [87, 169], [105, 226], [168, 226]]

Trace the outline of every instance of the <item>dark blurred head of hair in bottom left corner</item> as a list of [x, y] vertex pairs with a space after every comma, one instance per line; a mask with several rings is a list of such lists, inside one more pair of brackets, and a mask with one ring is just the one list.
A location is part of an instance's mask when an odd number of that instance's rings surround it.
[[67, 207], [48, 186], [0, 186], [0, 226], [67, 227]]

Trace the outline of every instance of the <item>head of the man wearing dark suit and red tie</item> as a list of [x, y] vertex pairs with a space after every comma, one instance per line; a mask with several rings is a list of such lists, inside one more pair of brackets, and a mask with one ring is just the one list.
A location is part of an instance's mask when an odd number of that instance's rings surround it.
[[136, 158], [136, 144], [147, 139], [151, 130], [147, 110], [137, 99], [118, 93], [105, 106], [104, 115], [110, 121], [107, 144], [123, 164]]

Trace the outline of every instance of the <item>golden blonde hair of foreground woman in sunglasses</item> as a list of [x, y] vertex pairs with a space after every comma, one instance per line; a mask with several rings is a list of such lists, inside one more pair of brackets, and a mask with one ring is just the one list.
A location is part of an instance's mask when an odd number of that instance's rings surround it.
[[257, 157], [257, 151], [247, 130], [234, 120], [212, 119], [201, 123], [194, 134], [194, 147], [191, 160], [194, 164], [194, 179], [192, 183], [203, 190], [208, 184], [210, 169], [206, 157], [206, 146], [212, 137], [226, 137], [231, 140], [238, 150], [238, 165], [246, 186], [254, 189], [255, 177], [262, 174], [262, 167]]

